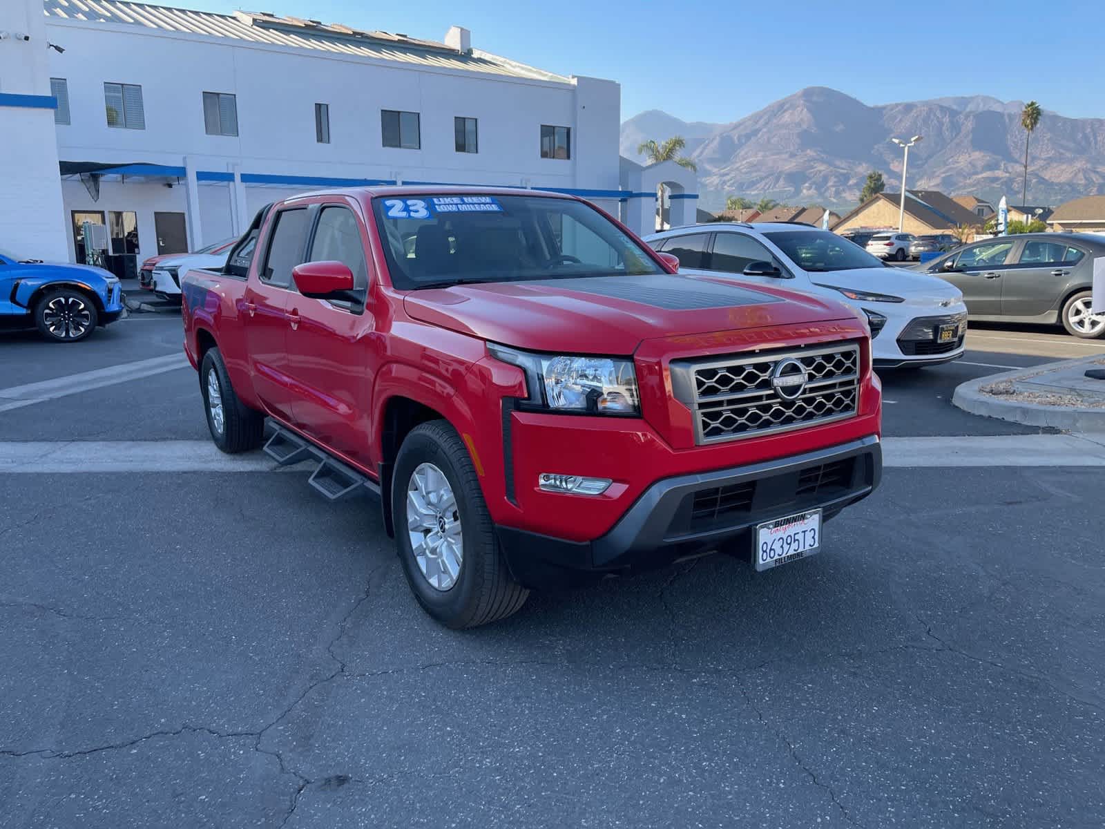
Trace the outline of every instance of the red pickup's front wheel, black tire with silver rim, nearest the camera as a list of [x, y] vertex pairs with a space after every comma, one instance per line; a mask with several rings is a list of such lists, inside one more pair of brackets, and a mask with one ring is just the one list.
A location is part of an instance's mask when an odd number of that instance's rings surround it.
[[407, 583], [445, 627], [487, 625], [525, 604], [529, 590], [507, 569], [472, 459], [448, 421], [415, 427], [399, 448], [391, 515]]

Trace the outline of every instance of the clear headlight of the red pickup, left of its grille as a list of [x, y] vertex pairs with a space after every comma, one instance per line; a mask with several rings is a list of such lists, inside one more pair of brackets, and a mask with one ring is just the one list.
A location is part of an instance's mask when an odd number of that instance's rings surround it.
[[633, 361], [619, 357], [550, 355], [487, 344], [496, 359], [526, 372], [529, 406], [590, 414], [639, 414]]

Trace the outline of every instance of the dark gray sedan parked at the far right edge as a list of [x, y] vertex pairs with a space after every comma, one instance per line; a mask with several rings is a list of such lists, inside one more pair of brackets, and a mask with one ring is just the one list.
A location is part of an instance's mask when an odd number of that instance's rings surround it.
[[1062, 323], [1091, 339], [1105, 334], [1105, 315], [1090, 313], [1096, 256], [1105, 256], [1105, 238], [1023, 233], [964, 245], [916, 270], [962, 291], [971, 319]]

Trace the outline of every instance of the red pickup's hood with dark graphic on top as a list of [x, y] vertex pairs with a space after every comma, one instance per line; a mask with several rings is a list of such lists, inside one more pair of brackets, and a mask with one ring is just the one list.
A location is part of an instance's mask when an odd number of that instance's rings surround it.
[[580, 276], [411, 291], [424, 323], [537, 351], [632, 354], [643, 339], [852, 318], [838, 303], [678, 274]]

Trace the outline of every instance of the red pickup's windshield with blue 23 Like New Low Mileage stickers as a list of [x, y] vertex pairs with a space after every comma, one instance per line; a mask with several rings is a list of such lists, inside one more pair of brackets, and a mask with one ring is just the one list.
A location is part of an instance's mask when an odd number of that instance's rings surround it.
[[462, 282], [664, 273], [585, 202], [543, 196], [419, 196], [372, 200], [400, 290]]

